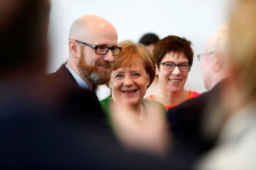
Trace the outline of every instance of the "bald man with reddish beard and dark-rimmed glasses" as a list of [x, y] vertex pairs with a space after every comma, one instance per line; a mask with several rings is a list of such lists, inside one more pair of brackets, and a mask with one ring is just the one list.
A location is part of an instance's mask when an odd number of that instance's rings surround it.
[[67, 64], [50, 76], [90, 90], [109, 81], [114, 56], [122, 49], [117, 46], [114, 26], [96, 15], [81, 16], [73, 22], [68, 46]]

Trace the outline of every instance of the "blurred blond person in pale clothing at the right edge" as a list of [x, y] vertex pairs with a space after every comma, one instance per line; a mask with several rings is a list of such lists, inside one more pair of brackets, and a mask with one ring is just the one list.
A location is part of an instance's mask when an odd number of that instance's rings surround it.
[[256, 1], [236, 1], [232, 7], [226, 58], [230, 80], [223, 87], [220, 106], [212, 111], [220, 119], [210, 118], [206, 133], [223, 124], [216, 146], [197, 169], [256, 169]]

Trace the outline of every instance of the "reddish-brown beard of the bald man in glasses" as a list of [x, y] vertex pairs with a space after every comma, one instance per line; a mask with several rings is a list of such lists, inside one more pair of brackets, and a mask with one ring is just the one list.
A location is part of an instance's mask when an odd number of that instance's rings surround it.
[[[98, 65], [109, 67], [109, 70], [101, 70], [97, 67]], [[84, 52], [82, 51], [79, 57], [78, 67], [84, 78], [92, 82], [92, 84], [101, 85], [108, 83], [110, 80], [112, 63], [108, 61], [97, 61], [93, 66], [90, 66], [85, 62]]]

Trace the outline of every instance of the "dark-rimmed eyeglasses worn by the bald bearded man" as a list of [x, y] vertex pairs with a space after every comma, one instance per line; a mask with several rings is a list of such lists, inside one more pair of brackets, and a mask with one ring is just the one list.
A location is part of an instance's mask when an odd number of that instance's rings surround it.
[[110, 50], [112, 50], [113, 56], [117, 56], [122, 50], [121, 46], [108, 47], [108, 46], [104, 46], [104, 45], [92, 45], [92, 44], [88, 44], [86, 42], [82, 42], [82, 41], [78, 41], [78, 40], [75, 40], [75, 41], [80, 43], [80, 44], [84, 44], [84, 45], [87, 45], [87, 46], [90, 46], [90, 47], [94, 48], [96, 54], [100, 54], [100, 55], [107, 54], [109, 52], [109, 49], [110, 49]]

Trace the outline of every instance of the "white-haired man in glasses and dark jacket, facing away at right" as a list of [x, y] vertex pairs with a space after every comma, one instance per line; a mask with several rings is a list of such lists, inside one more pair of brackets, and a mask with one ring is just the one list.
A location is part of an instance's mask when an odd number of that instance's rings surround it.
[[205, 87], [204, 94], [172, 107], [167, 112], [173, 135], [175, 159], [193, 162], [199, 155], [212, 148], [216, 137], [208, 137], [202, 131], [202, 124], [209, 107], [216, 107], [222, 84], [228, 77], [225, 62], [228, 45], [228, 25], [221, 25], [205, 48], [205, 53], [197, 57], [202, 62]]

